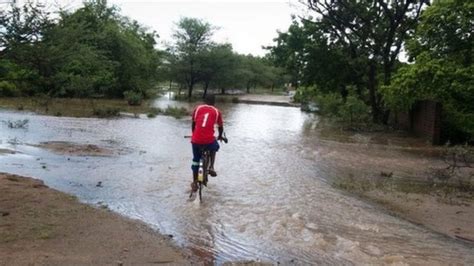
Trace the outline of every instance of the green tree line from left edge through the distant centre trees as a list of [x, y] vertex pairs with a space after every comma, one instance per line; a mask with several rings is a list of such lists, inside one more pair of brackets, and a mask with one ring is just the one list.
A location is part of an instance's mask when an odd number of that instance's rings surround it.
[[138, 98], [171, 81], [192, 97], [196, 87], [225, 93], [283, 84], [282, 70], [212, 40], [215, 27], [177, 23], [174, 42], [158, 49], [158, 34], [120, 15], [105, 0], [50, 14], [38, 3], [0, 11], [0, 96]]

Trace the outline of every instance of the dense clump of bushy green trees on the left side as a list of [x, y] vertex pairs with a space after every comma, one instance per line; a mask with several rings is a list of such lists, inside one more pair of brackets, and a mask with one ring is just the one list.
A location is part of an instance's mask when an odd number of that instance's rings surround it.
[[[154, 32], [121, 16], [105, 0], [91, 1], [53, 21], [31, 2], [0, 13], [0, 53], [12, 82], [26, 95], [146, 96], [158, 79]], [[7, 62], [7, 61], [2, 61]], [[15, 66], [15, 67], [11, 67]], [[17, 74], [11, 71], [19, 71]]]

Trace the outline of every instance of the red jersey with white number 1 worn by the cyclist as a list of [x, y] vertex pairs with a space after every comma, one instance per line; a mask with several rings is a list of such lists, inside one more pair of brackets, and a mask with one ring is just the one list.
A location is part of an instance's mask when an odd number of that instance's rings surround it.
[[223, 126], [221, 112], [211, 105], [199, 105], [194, 109], [193, 122], [194, 126], [193, 136], [191, 142], [195, 144], [209, 144], [214, 142], [214, 126]]

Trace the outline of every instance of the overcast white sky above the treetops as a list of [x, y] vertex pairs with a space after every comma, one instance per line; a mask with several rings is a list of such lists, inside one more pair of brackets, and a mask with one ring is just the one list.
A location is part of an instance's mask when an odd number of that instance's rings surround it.
[[[40, 2], [74, 9], [83, 1]], [[236, 52], [253, 55], [263, 55], [262, 45], [271, 45], [277, 30], [286, 31], [291, 14], [297, 11], [297, 0], [108, 0], [108, 3], [120, 7], [122, 15], [155, 30], [160, 43], [172, 41], [174, 23], [180, 18], [193, 17], [220, 28], [214, 35], [215, 41], [229, 42]]]

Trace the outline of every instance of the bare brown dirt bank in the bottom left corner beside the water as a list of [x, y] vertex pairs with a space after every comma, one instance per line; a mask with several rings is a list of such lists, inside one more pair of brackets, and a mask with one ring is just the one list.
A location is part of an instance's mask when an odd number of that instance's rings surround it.
[[0, 265], [188, 264], [144, 224], [0, 173]]

